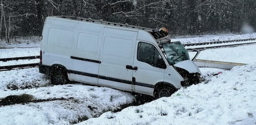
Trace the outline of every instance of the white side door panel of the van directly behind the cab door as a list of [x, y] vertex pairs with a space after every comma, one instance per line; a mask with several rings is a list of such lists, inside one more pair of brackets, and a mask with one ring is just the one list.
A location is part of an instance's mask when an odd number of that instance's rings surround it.
[[98, 84], [131, 91], [138, 32], [105, 28]]

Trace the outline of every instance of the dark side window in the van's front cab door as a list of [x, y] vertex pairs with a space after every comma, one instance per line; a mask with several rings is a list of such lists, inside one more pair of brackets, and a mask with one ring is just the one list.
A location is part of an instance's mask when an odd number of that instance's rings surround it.
[[138, 44], [137, 59], [154, 67], [159, 67], [159, 60], [163, 60], [156, 47], [143, 42]]

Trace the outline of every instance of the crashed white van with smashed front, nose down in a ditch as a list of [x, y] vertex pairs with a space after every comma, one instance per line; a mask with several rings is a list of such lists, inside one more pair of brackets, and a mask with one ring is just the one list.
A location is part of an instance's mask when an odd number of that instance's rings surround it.
[[201, 72], [168, 32], [78, 17], [47, 17], [39, 72], [69, 81], [167, 97]]

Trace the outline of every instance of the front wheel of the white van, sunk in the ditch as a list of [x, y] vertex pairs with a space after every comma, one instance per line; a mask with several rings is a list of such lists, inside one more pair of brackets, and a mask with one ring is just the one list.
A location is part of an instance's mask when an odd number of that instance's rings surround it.
[[162, 97], [170, 97], [174, 92], [175, 88], [169, 87], [168, 85], [161, 85], [159, 88], [157, 88], [157, 91], [155, 93], [155, 98], [162, 98]]

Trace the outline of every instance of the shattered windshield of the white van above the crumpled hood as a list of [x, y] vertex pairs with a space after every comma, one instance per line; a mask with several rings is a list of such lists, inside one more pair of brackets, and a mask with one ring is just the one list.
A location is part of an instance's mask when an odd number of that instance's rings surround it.
[[189, 60], [189, 53], [179, 41], [166, 42], [162, 45], [164, 55], [170, 65]]

